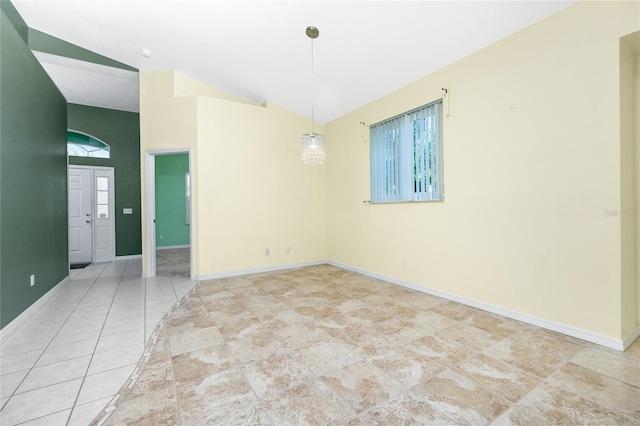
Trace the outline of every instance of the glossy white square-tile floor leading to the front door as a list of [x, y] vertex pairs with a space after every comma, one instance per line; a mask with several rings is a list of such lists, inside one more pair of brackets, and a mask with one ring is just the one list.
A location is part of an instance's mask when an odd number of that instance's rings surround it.
[[158, 321], [195, 281], [140, 278], [141, 260], [72, 270], [0, 345], [0, 424], [88, 425], [118, 392]]

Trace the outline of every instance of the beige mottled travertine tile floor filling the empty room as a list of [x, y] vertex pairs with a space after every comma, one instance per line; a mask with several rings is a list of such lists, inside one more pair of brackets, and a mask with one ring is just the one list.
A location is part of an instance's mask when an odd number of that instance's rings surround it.
[[329, 265], [199, 283], [151, 342], [94, 424], [640, 424], [640, 341], [622, 354]]

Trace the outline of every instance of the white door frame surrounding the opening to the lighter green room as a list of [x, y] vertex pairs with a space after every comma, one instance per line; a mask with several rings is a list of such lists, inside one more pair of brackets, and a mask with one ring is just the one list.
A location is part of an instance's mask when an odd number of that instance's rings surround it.
[[144, 152], [144, 206], [145, 206], [145, 263], [144, 277], [156, 276], [156, 155], [187, 154], [189, 156], [189, 174], [191, 176], [191, 199], [189, 205], [189, 276], [193, 279], [193, 164], [191, 148], [147, 149]]

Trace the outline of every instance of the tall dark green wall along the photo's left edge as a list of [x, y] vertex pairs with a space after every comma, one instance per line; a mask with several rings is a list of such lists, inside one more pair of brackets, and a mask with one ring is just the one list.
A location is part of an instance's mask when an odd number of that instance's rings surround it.
[[20, 24], [16, 28], [15, 17], [10, 20], [5, 13], [13, 6], [5, 1], [1, 6], [0, 327], [4, 328], [67, 277], [69, 263], [67, 103], [29, 50]]

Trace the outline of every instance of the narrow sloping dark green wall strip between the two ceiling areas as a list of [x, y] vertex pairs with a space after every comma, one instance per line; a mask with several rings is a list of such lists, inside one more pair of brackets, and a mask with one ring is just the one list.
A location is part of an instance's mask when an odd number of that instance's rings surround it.
[[90, 50], [83, 49], [75, 44], [60, 40], [59, 38], [34, 30], [33, 28], [29, 28], [28, 34], [29, 47], [33, 50], [37, 50], [38, 52], [51, 53], [53, 55], [64, 56], [65, 58], [106, 65], [108, 67], [120, 68], [127, 71], [138, 71], [137, 68], [130, 67], [122, 62], [114, 61], [106, 56], [98, 55]]

